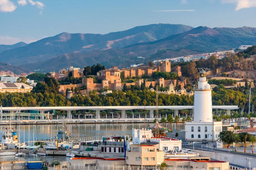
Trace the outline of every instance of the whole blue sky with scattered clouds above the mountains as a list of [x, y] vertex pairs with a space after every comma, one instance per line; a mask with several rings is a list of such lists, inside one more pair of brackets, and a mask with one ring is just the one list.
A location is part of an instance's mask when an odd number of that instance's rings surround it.
[[256, 0], [0, 0], [0, 44], [139, 25], [256, 27]]

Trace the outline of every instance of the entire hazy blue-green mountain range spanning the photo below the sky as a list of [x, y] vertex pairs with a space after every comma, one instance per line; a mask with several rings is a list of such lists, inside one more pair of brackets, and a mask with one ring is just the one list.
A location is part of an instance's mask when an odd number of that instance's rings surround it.
[[[127, 67], [135, 63], [256, 45], [256, 28], [190, 27], [151, 24], [109, 34], [61, 33], [0, 53], [1, 62], [57, 71], [100, 63]], [[143, 58], [137, 58], [142, 56]]]

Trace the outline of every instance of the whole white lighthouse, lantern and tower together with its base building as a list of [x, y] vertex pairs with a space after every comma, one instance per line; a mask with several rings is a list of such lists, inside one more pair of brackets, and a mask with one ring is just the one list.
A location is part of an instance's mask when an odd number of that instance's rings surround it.
[[216, 141], [222, 130], [222, 122], [213, 122], [212, 119], [212, 89], [206, 81], [205, 70], [200, 71], [198, 87], [194, 91], [194, 121], [185, 122], [186, 139]]

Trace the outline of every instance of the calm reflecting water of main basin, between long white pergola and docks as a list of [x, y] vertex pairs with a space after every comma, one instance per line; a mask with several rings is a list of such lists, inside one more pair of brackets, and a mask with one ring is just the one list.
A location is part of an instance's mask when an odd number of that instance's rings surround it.
[[[126, 134], [131, 135], [132, 134], [132, 124], [131, 123], [97, 123], [97, 124], [66, 124], [66, 128], [70, 129], [71, 136], [74, 136], [74, 138], [83, 138], [90, 137], [90, 136], [99, 136], [100, 133], [102, 136], [112, 136], [116, 135], [125, 135], [125, 129]], [[152, 127], [154, 123], [146, 123], [146, 128]], [[20, 141], [23, 142], [28, 141], [28, 132], [30, 128], [30, 136], [31, 139], [33, 139], [33, 129], [35, 131], [35, 139], [48, 139], [51, 137], [51, 127], [52, 127], [52, 138], [54, 136], [57, 136], [58, 130], [62, 128], [61, 124], [54, 124], [54, 125], [13, 125], [13, 128], [16, 129], [16, 131], [19, 131], [20, 126]], [[127, 128], [126, 128], [127, 126]], [[168, 126], [168, 123], [166, 123], [166, 126]], [[118, 129], [117, 129], [118, 127]], [[133, 127], [136, 129], [142, 129], [144, 128], [144, 123], [133, 123]], [[5, 130], [6, 126], [0, 125], [0, 133], [3, 134], [3, 131]], [[172, 124], [172, 128], [175, 129], [176, 125], [175, 123]], [[178, 123], [178, 129], [184, 129], [183, 123]]]

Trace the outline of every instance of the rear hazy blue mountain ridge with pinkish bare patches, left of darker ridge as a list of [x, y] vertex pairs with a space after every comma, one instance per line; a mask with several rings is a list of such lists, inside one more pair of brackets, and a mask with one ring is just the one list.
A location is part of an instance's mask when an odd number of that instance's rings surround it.
[[93, 50], [119, 49], [134, 43], [153, 41], [154, 38], [158, 40], [158, 38], [161, 39], [190, 29], [193, 27], [180, 24], [151, 24], [104, 35], [63, 32], [30, 43], [26, 47], [4, 51], [0, 54], [0, 58], [3, 62], [12, 64], [36, 63], [56, 58], [65, 53], [89, 53]]

